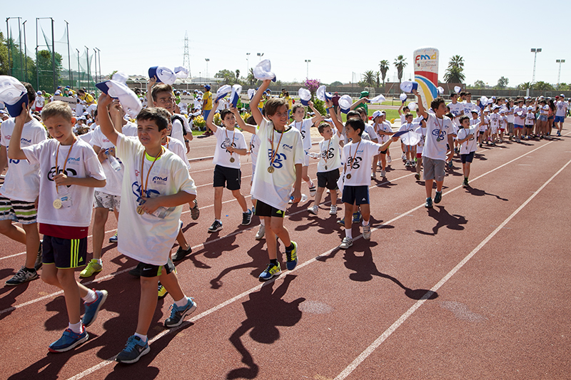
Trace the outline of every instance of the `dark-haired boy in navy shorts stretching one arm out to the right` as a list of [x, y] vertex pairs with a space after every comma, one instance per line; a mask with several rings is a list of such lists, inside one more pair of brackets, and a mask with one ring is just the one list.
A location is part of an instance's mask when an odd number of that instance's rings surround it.
[[356, 207], [360, 207], [361, 215], [363, 215], [363, 238], [370, 240], [369, 185], [371, 168], [368, 163], [374, 155], [378, 155], [380, 151], [386, 150], [390, 143], [398, 140], [398, 138], [390, 138], [383, 145], [373, 143], [370, 140], [361, 139], [364, 130], [365, 123], [360, 118], [350, 118], [345, 123], [345, 131], [351, 141], [343, 147], [341, 158], [341, 162], [344, 163], [343, 197], [341, 200], [345, 205], [345, 237], [339, 245], [342, 250], [353, 245], [351, 230], [353, 220], [351, 216]]

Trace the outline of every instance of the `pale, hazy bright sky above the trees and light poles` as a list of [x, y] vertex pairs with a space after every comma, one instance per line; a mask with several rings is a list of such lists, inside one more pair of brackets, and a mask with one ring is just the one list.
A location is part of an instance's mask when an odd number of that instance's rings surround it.
[[[555, 61], [566, 59], [560, 82], [571, 83], [571, 39], [563, 29], [570, 0], [545, 6], [528, 0], [517, 6], [487, 0], [101, 0], [59, 1], [57, 8], [50, 1], [4, 3], [4, 16], [27, 20], [29, 50], [35, 48], [36, 18], [54, 18], [56, 40], [64, 35], [66, 20], [72, 51], [100, 49], [103, 75], [115, 70], [146, 75], [151, 66], [182, 66], [188, 31], [191, 76], [206, 76], [208, 70], [212, 77], [222, 69], [246, 76], [259, 62], [257, 53], [263, 53], [281, 81], [303, 81], [307, 75], [323, 83], [358, 81], [365, 71], [378, 71], [383, 59], [391, 63], [387, 81], [392, 81], [397, 79], [393, 62], [402, 54], [406, 80], [413, 76], [413, 51], [431, 46], [440, 51], [440, 80], [450, 57], [459, 55], [465, 83], [494, 86], [505, 76], [508, 86], [517, 86], [532, 80], [530, 48], [542, 48], [535, 81], [557, 83]], [[42, 22], [49, 31], [49, 21]], [[17, 21], [10, 23], [16, 31]], [[6, 35], [6, 23], [0, 31]], [[251, 53], [248, 60], [246, 53]]]

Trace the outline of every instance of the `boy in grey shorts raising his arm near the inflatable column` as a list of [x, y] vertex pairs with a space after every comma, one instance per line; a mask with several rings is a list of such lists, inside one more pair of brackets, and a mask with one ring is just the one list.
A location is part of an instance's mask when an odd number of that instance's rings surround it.
[[[433, 208], [433, 181], [436, 181], [436, 194], [434, 202], [439, 203], [442, 200], [442, 186], [444, 184], [444, 167], [446, 156], [454, 153], [453, 146], [453, 128], [452, 121], [444, 114], [446, 113], [446, 105], [443, 98], [435, 98], [430, 102], [430, 108], [434, 113], [428, 113], [423, 106], [423, 98], [418, 91], [413, 90], [418, 97], [418, 113], [426, 120], [426, 140], [423, 148], [423, 167], [424, 180], [426, 190], [426, 208]], [[447, 153], [446, 143], [450, 147]]]

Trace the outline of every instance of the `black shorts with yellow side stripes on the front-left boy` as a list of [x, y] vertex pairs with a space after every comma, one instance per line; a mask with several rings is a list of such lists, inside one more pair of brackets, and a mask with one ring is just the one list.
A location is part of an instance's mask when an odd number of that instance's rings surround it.
[[82, 239], [62, 239], [44, 235], [41, 245], [41, 262], [55, 264], [56, 268], [69, 269], [86, 265], [87, 237]]

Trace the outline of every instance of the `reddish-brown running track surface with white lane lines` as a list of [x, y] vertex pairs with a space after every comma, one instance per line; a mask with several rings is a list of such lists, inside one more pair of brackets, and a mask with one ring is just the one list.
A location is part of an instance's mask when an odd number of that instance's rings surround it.
[[[256, 277], [268, 256], [265, 240], [254, 240], [258, 219], [241, 227], [240, 207], [225, 192], [224, 229], [208, 234], [212, 163], [192, 163], [201, 217], [183, 214], [193, 254], [177, 265], [198, 304], [191, 318], [163, 329], [166, 297], [149, 332], [150, 354], [131, 366], [108, 361], [134, 332], [139, 285], [126, 273], [135, 262], [105, 244], [103, 272], [82, 282], [109, 297], [77, 349], [48, 354], [67, 326], [57, 289], [41, 281], [0, 289], [1, 377], [569, 379], [571, 137], [477, 153], [472, 188], [461, 188], [455, 160], [443, 201], [426, 210], [423, 183], [394, 147], [388, 180], [371, 183], [371, 240], [358, 238], [347, 251], [336, 248], [342, 228], [328, 205], [319, 217], [305, 211], [311, 200], [290, 207], [285, 226], [300, 263], [263, 285]], [[251, 163], [242, 163], [248, 194]], [[312, 178], [315, 169], [312, 163]], [[107, 237], [115, 228], [110, 216]], [[0, 237], [1, 281], [22, 265], [23, 250]]]

